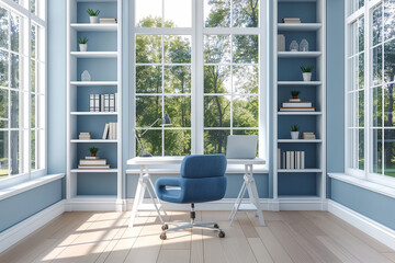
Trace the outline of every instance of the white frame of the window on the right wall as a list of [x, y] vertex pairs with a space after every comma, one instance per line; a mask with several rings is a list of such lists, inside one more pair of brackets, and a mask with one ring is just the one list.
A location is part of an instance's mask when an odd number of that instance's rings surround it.
[[[384, 4], [384, 0], [365, 0], [364, 7], [360, 8], [356, 12], [348, 15], [348, 9], [350, 8], [349, 1], [345, 1], [345, 10], [346, 10], [346, 18], [345, 18], [345, 68], [346, 68], [346, 75], [345, 75], [345, 104], [346, 104], [346, 118], [345, 118], [345, 138], [346, 138], [346, 147], [345, 147], [345, 171], [346, 174], [371, 181], [374, 183], [383, 184], [390, 187], [395, 187], [395, 178], [373, 173], [372, 171], [372, 144], [373, 144], [373, 133], [371, 128], [372, 124], [372, 92], [370, 92], [371, 87], [370, 83], [372, 83], [372, 30], [373, 30], [373, 10], [379, 4]], [[350, 41], [350, 27], [352, 23], [358, 21], [360, 18], [364, 18], [364, 126], [362, 130], [364, 130], [364, 169], [358, 170], [352, 169], [349, 167], [350, 163], [350, 152], [352, 149], [350, 149], [350, 146], [348, 144], [349, 141], [349, 123], [350, 123], [350, 112], [349, 112], [349, 100], [348, 100], [348, 93], [349, 93], [349, 78], [348, 78], [348, 50], [351, 47], [352, 42]], [[353, 37], [353, 36], [351, 36]], [[384, 52], [384, 50], [383, 50]], [[384, 76], [383, 76], [384, 78]], [[354, 111], [358, 111], [356, 108]], [[356, 147], [353, 147], [356, 148]]]

